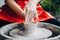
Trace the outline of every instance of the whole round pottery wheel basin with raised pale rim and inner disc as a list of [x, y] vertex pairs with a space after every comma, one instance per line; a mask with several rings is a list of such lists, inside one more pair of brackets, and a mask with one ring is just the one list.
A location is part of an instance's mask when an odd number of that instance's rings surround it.
[[[53, 24], [39, 22], [37, 35], [36, 34], [33, 34], [33, 35], [19, 34], [20, 30], [18, 27], [21, 25], [22, 25], [21, 23], [12, 23], [12, 24], [5, 25], [0, 29], [0, 34], [3, 37], [11, 40], [46, 40], [46, 39], [51, 40], [51, 39], [57, 39], [60, 37], [60, 28]], [[47, 30], [47, 31], [44, 31], [44, 30]]]

